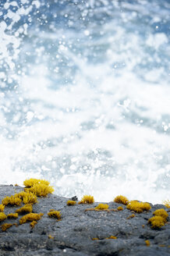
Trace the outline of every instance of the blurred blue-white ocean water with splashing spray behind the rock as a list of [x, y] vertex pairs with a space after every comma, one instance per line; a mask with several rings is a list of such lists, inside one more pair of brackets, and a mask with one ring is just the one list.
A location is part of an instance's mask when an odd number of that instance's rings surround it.
[[0, 183], [169, 199], [169, 41], [169, 0], [1, 0]]

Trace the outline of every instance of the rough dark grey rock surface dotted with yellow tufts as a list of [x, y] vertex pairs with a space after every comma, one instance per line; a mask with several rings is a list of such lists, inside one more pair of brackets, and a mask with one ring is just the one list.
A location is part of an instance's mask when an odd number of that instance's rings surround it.
[[[0, 199], [18, 193], [22, 187], [0, 186]], [[1, 256], [168, 256], [170, 254], [170, 225], [166, 223], [159, 230], [151, 229], [147, 220], [152, 212], [164, 205], [151, 205], [150, 212], [135, 214], [133, 219], [127, 219], [132, 212], [123, 204], [110, 202], [109, 208], [121, 205], [120, 212], [85, 212], [85, 209], [95, 207], [98, 203], [76, 204], [67, 206], [69, 198], [58, 197], [55, 194], [38, 199], [33, 212], [42, 212], [44, 216], [37, 222], [34, 229], [30, 223], [12, 226], [5, 232], [0, 229]], [[15, 212], [19, 207], [5, 207], [5, 214]], [[51, 208], [62, 213], [62, 220], [48, 218]], [[167, 208], [165, 208], [168, 210]], [[20, 218], [20, 217], [19, 217]], [[7, 219], [0, 223], [19, 224], [18, 219]], [[106, 239], [116, 236], [117, 239]], [[97, 240], [93, 240], [97, 238]], [[145, 240], [150, 240], [147, 247]]]

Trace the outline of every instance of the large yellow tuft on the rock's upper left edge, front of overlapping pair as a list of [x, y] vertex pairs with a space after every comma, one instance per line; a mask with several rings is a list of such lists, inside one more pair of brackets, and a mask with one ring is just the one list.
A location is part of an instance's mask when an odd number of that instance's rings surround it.
[[46, 197], [48, 194], [51, 194], [54, 191], [54, 188], [44, 183], [40, 183], [35, 184], [33, 187], [25, 189], [25, 191], [30, 191], [36, 194], [37, 197]]

